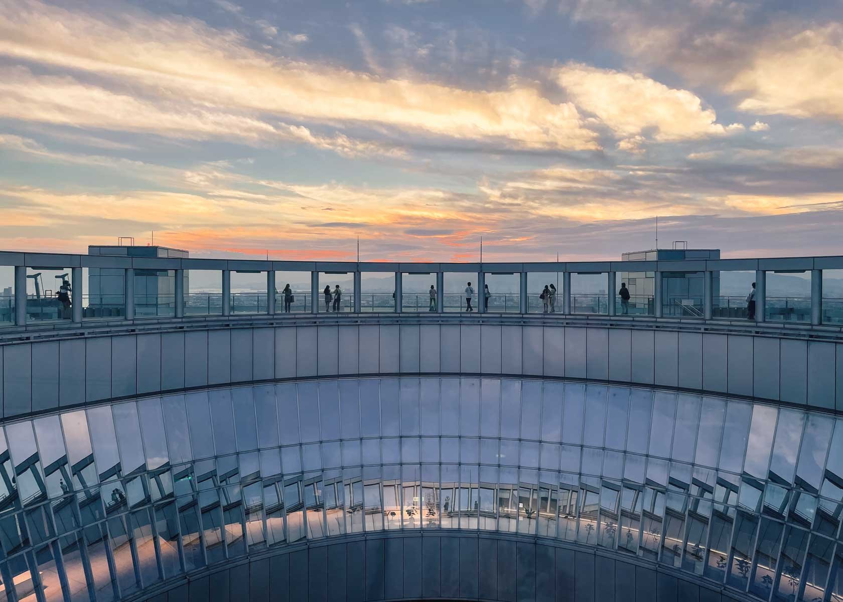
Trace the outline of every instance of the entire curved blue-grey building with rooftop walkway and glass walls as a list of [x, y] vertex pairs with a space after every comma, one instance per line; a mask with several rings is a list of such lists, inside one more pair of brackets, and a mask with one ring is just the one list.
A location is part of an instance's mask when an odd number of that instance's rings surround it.
[[843, 599], [838, 280], [0, 253], [3, 589]]

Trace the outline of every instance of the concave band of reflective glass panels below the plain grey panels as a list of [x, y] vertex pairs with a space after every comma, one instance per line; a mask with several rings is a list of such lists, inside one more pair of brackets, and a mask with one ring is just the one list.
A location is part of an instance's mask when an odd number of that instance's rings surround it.
[[538, 379], [330, 379], [3, 425], [8, 599], [125, 598], [301, 540], [483, 529], [843, 598], [843, 419]]

